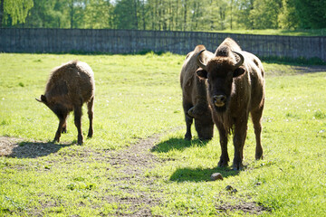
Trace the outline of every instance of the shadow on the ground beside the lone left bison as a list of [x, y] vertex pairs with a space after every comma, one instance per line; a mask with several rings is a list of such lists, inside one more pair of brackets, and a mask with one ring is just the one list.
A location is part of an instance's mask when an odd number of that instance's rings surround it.
[[20, 142], [18, 146], [14, 146], [12, 153], [8, 156], [16, 158], [36, 158], [39, 156], [48, 156], [58, 152], [61, 148], [72, 146], [71, 144], [54, 144], [52, 142]]

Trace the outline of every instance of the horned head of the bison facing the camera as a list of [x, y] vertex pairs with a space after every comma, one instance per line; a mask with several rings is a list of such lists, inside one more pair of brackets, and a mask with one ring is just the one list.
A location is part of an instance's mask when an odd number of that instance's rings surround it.
[[244, 56], [239, 52], [234, 52], [240, 57], [240, 61], [235, 62], [230, 56], [216, 56], [204, 64], [200, 61], [202, 52], [205, 50], [197, 54], [197, 65], [199, 66], [197, 76], [207, 80], [208, 96], [211, 103], [216, 111], [223, 112], [233, 90], [234, 78], [245, 73], [245, 69], [241, 67], [245, 60]]

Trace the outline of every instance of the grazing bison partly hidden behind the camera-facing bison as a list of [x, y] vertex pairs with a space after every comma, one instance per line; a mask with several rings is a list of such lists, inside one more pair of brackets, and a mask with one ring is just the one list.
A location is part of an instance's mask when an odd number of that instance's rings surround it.
[[[195, 127], [199, 139], [211, 139], [213, 137], [214, 122], [209, 108], [206, 94], [205, 80], [196, 76], [198, 70], [196, 55], [206, 49], [204, 45], [197, 45], [193, 52], [187, 54], [180, 73], [182, 89], [182, 104], [186, 117], [187, 133], [185, 139], [191, 139], [191, 125], [195, 118]], [[214, 54], [205, 52], [201, 55], [202, 61], [206, 62]]]

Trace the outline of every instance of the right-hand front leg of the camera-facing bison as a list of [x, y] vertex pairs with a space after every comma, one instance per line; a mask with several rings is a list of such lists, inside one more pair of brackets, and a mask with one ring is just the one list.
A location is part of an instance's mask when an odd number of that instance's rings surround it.
[[240, 170], [243, 165], [244, 159], [244, 146], [245, 137], [247, 131], [248, 118], [241, 118], [235, 123], [235, 136], [234, 136], [234, 146], [235, 146], [235, 158], [234, 158], [234, 170]]

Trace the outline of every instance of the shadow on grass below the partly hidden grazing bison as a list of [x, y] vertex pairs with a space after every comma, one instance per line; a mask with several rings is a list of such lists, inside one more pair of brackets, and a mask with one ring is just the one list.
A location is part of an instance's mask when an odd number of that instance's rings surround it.
[[162, 141], [158, 143], [158, 145], [153, 146], [150, 151], [157, 153], [168, 153], [172, 149], [183, 151], [191, 146], [206, 146], [208, 142], [208, 140], [201, 141], [199, 139], [193, 139], [188, 141], [181, 137], [171, 137], [168, 140]]

